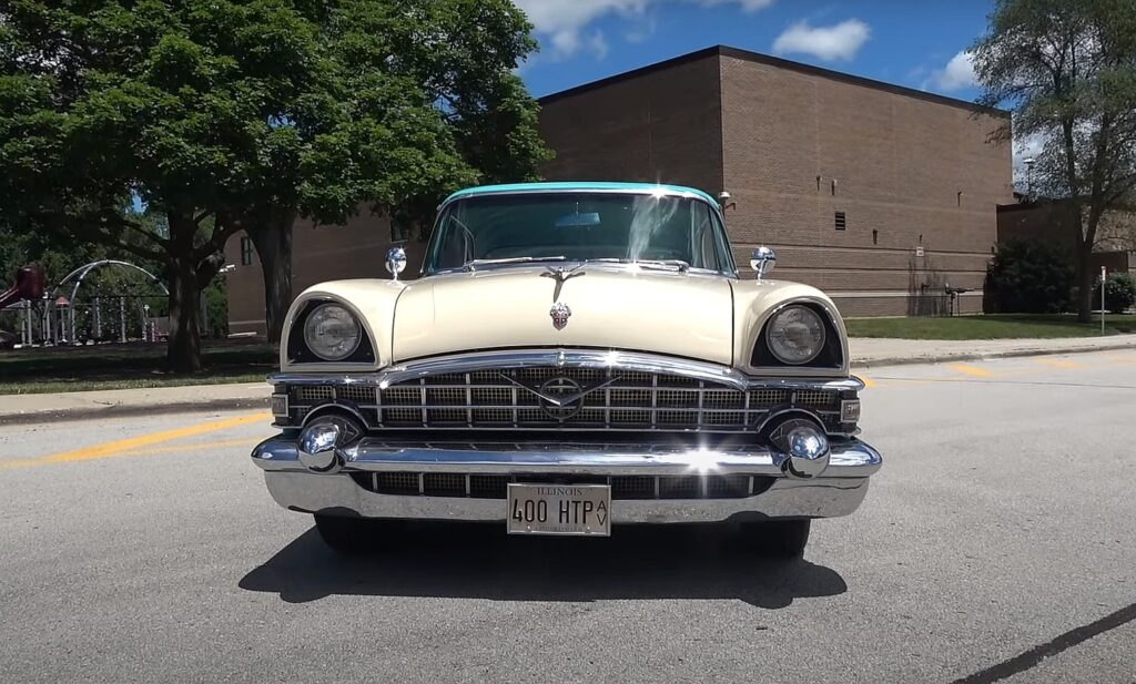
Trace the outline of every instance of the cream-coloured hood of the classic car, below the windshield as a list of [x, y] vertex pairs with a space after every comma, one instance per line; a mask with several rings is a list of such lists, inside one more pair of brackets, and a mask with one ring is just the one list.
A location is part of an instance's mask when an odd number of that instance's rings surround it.
[[[551, 310], [571, 315], [557, 329]], [[599, 347], [733, 362], [729, 279], [620, 264], [569, 277], [548, 267], [431, 276], [406, 285], [394, 311], [395, 363], [467, 351]]]

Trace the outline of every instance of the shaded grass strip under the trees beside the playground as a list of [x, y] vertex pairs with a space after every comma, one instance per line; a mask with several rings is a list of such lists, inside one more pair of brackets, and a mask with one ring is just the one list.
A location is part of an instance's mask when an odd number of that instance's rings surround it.
[[166, 346], [100, 345], [0, 352], [0, 395], [258, 382], [276, 369], [276, 345], [212, 343], [200, 373], [166, 371]]

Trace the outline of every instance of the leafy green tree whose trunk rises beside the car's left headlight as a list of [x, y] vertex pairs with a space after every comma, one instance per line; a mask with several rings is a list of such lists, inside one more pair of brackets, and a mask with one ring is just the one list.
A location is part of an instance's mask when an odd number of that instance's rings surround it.
[[362, 205], [417, 235], [462, 185], [537, 177], [549, 153], [513, 73], [536, 48], [531, 28], [508, 0], [343, 2], [321, 17], [329, 59], [309, 84], [314, 105], [282, 115], [265, 201], [242, 217], [270, 339], [292, 301], [296, 216], [342, 222]]

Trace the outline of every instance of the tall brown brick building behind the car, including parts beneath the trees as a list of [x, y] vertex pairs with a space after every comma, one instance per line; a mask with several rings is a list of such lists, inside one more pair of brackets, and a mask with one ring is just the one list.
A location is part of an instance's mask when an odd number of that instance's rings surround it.
[[[1012, 202], [1009, 115], [716, 47], [541, 99], [550, 180], [645, 180], [728, 191], [740, 264], [777, 250], [775, 277], [828, 292], [846, 315], [937, 313], [944, 289], [982, 310], [999, 204]], [[384, 276], [386, 221], [298, 222], [295, 292]], [[417, 255], [414, 252], [417, 251]], [[412, 245], [408, 271], [420, 263]], [[262, 331], [256, 257], [228, 245], [233, 331]], [[248, 263], [247, 263], [248, 262]], [[743, 269], [747, 271], [747, 267]]]

